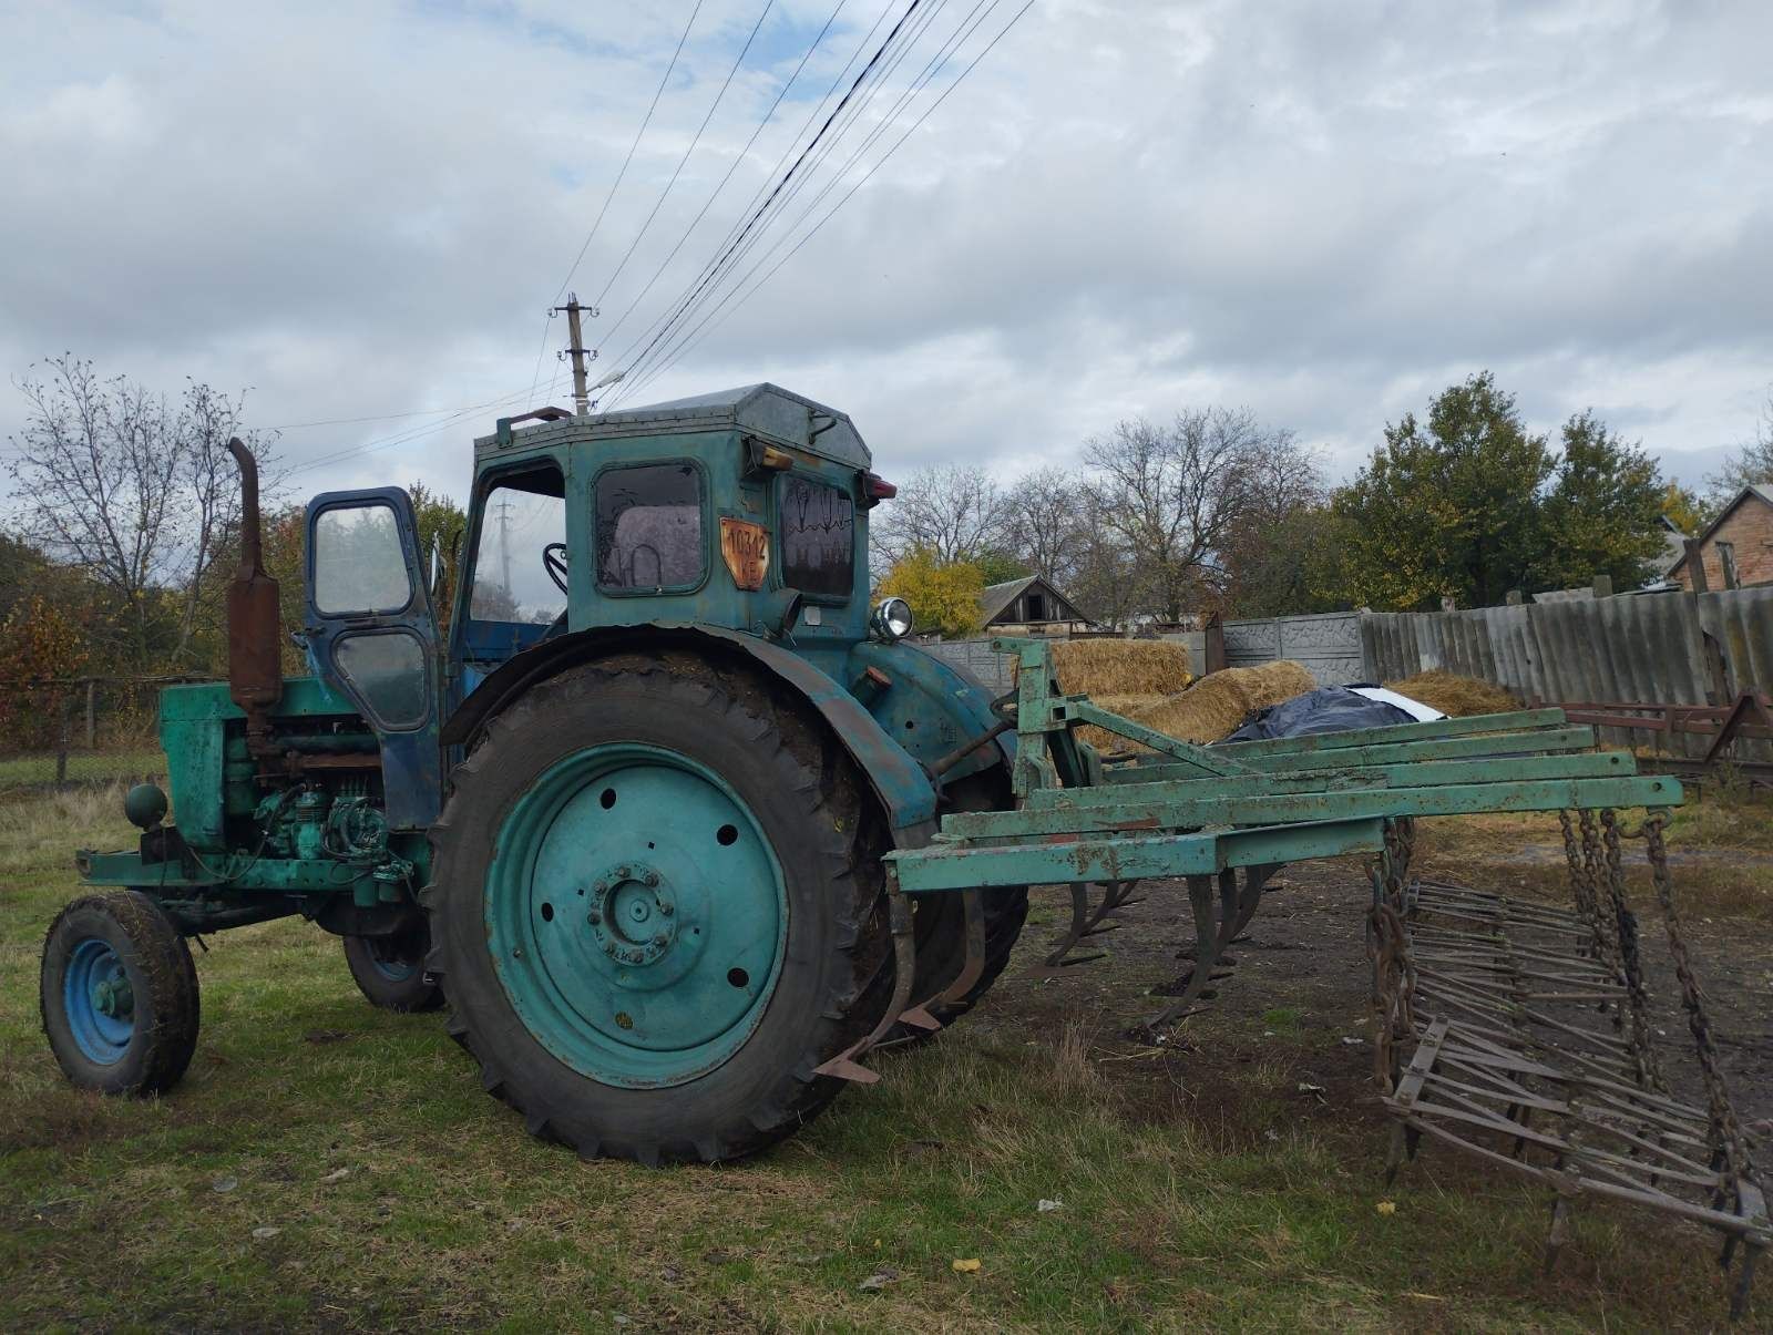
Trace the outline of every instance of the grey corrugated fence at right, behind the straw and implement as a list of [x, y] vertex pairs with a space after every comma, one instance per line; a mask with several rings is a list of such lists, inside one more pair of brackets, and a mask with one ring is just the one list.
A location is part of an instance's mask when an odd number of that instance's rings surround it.
[[[1729, 704], [1773, 690], [1773, 587], [1714, 594], [1619, 594], [1472, 612], [1363, 613], [1374, 681], [1445, 668], [1527, 702]], [[1723, 686], [1714, 686], [1722, 665]], [[1629, 743], [1608, 729], [1610, 741]], [[1752, 746], [1757, 759], [1773, 748]]]

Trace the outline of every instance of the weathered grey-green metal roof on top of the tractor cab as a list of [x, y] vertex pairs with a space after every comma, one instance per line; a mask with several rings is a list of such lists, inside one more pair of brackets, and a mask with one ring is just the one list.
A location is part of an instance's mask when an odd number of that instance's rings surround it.
[[688, 431], [736, 429], [777, 445], [824, 456], [833, 463], [867, 468], [872, 461], [847, 413], [803, 399], [778, 385], [743, 385], [734, 390], [699, 394], [691, 399], [626, 408], [619, 413], [567, 417], [518, 427], [507, 445], [500, 436], [473, 441], [477, 459], [511, 454], [535, 445], [576, 440], [670, 436]]

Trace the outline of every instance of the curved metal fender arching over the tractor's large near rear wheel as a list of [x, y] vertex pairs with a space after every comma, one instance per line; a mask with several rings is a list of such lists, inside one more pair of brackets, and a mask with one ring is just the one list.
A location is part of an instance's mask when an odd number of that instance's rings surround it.
[[505, 706], [569, 667], [615, 652], [688, 649], [702, 656], [736, 652], [791, 686], [830, 725], [849, 757], [869, 777], [892, 826], [895, 847], [922, 847], [936, 833], [936, 785], [929, 773], [839, 683], [798, 654], [755, 635], [720, 626], [601, 626], [546, 640], [500, 665], [457, 706], [443, 725], [445, 746], [465, 746]]

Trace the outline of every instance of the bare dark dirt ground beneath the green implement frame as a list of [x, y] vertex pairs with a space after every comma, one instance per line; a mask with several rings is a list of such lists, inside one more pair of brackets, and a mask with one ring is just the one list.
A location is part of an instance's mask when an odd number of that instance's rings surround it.
[[[1562, 844], [1555, 853], [1560, 870]], [[1493, 874], [1486, 878], [1482, 867], [1464, 862], [1468, 879], [1534, 894], [1516, 872], [1521, 847], [1495, 847], [1486, 856]], [[1677, 894], [1681, 879], [1736, 856], [1688, 853], [1675, 862]], [[1303, 1120], [1376, 1161], [1386, 1119], [1372, 1080], [1369, 894], [1353, 860], [1287, 867], [1234, 943], [1236, 966], [1216, 984], [1218, 996], [1183, 1019], [1168, 1044], [1151, 1048], [1129, 1039], [1128, 1028], [1161, 1009], [1154, 988], [1190, 968], [1195, 933], [1186, 886], [1149, 883], [1142, 902], [1119, 911], [1119, 929], [1089, 943], [1105, 950], [1103, 959], [1057, 972], [1041, 957], [1062, 933], [1064, 892], [1035, 888], [1016, 959], [965, 1023], [1028, 1041], [1078, 1025], [1129, 1115], [1191, 1124], [1222, 1149], [1259, 1145]], [[1704, 1105], [1661, 918], [1642, 897], [1638, 915], [1663, 1066], [1683, 1097]], [[1686, 936], [1738, 1113], [1752, 1126], [1766, 1124], [1773, 1119], [1773, 931], [1695, 917]]]

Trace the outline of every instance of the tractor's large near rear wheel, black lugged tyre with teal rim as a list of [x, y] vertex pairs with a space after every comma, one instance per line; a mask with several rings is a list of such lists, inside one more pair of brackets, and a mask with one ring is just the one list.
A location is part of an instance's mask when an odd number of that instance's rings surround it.
[[730, 1159], [842, 1081], [890, 1000], [878, 823], [780, 688], [601, 660], [496, 716], [433, 831], [427, 961], [450, 1032], [534, 1135]]

